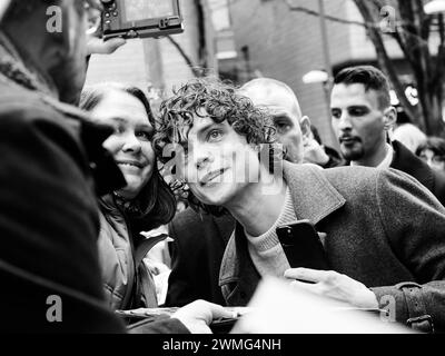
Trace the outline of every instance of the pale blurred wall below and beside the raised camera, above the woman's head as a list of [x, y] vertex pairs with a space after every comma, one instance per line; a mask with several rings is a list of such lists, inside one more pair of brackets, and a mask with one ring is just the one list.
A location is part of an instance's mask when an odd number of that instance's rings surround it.
[[181, 0], [185, 31], [171, 40], [131, 39], [112, 55], [91, 57], [86, 85], [118, 81], [137, 86], [151, 101], [192, 78], [192, 66], [217, 72], [214, 26], [206, 0]]

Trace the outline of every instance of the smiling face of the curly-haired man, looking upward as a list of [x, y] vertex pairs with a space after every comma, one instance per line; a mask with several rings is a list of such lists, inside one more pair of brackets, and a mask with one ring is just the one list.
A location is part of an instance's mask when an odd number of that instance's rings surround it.
[[179, 175], [201, 202], [230, 207], [258, 181], [258, 154], [227, 121], [194, 117]]

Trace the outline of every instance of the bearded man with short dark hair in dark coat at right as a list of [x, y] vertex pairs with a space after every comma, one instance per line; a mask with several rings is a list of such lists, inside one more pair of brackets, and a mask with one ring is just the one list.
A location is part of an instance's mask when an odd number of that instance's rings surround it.
[[370, 66], [342, 70], [334, 79], [330, 108], [342, 155], [352, 166], [405, 171], [445, 205], [445, 175], [403, 144], [387, 140], [397, 111], [390, 106], [389, 83], [382, 71]]

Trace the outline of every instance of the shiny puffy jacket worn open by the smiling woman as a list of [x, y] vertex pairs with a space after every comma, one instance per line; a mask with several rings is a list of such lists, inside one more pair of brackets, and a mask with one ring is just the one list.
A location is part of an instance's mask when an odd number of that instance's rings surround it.
[[[158, 306], [154, 277], [142, 259], [159, 238], [144, 238], [112, 195], [100, 199], [99, 263], [105, 294], [112, 309]], [[146, 219], [147, 220], [147, 219]], [[167, 237], [167, 236], [165, 236]]]

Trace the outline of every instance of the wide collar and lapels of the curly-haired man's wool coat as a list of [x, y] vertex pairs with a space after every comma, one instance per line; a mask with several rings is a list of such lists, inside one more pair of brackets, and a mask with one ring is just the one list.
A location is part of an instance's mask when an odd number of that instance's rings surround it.
[[[295, 214], [299, 220], [309, 219], [316, 225], [346, 202], [325, 177], [323, 169], [315, 165], [284, 162], [283, 178], [289, 187]], [[246, 278], [258, 280], [259, 275], [248, 256], [244, 229], [237, 222], [222, 257], [219, 286], [239, 283], [246, 288], [255, 288], [256, 285], [251, 286], [251, 280], [248, 283]]]

